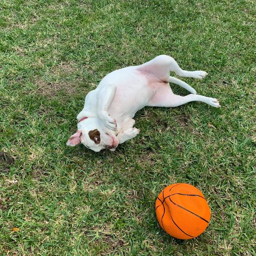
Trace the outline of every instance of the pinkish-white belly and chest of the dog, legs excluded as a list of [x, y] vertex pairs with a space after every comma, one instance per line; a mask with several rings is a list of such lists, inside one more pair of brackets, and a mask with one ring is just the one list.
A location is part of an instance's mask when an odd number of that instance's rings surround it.
[[149, 103], [155, 93], [155, 88], [137, 71], [136, 66], [111, 72], [101, 80], [98, 88], [108, 84], [117, 86], [116, 95], [109, 107], [109, 113], [117, 123], [133, 118], [138, 110]]

